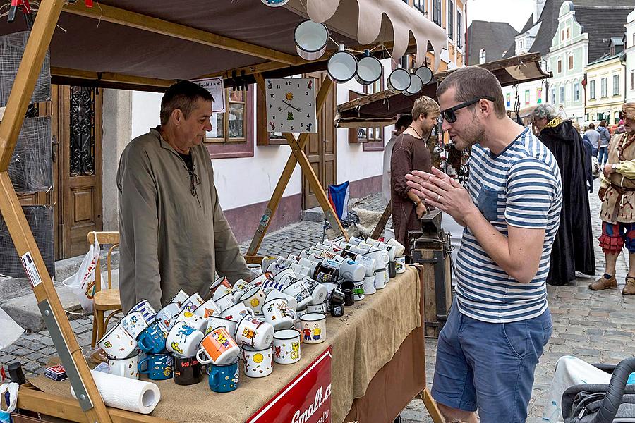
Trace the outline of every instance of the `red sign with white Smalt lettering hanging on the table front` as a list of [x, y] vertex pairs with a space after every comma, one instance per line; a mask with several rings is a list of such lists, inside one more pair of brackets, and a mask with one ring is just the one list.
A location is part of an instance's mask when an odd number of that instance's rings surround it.
[[247, 420], [265, 422], [331, 422], [331, 347]]

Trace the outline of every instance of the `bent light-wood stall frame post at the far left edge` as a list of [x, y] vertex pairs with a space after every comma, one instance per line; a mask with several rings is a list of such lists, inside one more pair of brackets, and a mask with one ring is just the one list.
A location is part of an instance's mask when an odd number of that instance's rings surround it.
[[[13, 190], [11, 178], [8, 176], [8, 165], [13, 149], [18, 141], [18, 134], [28, 108], [35, 83], [40, 75], [47, 49], [51, 42], [55, 25], [63, 6], [63, 0], [43, 0], [33, 24], [16, 80], [13, 82], [6, 111], [0, 122], [0, 213], [6, 222], [18, 255], [22, 257], [27, 269], [29, 281], [37, 298], [38, 307], [45, 315], [49, 332], [66, 367], [71, 382], [78, 394], [86, 421], [89, 423], [111, 423], [111, 418], [97, 391], [82, 350], [71, 329], [59, 296], [51, 281], [51, 276], [44, 265], [44, 260], [37, 248], [33, 234], [16, 191]], [[60, 336], [54, 336], [59, 333]], [[71, 377], [72, 376], [72, 377]], [[78, 389], [80, 387], [80, 389]], [[85, 391], [85, 393], [81, 393]]]

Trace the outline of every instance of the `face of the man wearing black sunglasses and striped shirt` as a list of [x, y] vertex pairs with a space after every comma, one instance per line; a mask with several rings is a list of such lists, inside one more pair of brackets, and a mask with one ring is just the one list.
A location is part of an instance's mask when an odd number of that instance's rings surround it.
[[[441, 94], [439, 97], [441, 110], [446, 110], [460, 104], [461, 102], [457, 101], [455, 96], [456, 88], [454, 87], [449, 87]], [[478, 106], [478, 104], [476, 104], [476, 106]], [[485, 128], [483, 128], [483, 123], [476, 117], [474, 107], [475, 106], [468, 106], [455, 111], [456, 121], [452, 123], [446, 120], [443, 121], [443, 130], [448, 133], [450, 139], [455, 144], [455, 148], [458, 150], [471, 147], [484, 139]]]

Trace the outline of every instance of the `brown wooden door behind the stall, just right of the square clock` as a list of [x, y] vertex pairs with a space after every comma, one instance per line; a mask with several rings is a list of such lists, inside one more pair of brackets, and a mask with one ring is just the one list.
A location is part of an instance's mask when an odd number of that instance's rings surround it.
[[[326, 72], [310, 73], [306, 75], [306, 78], [315, 78], [315, 92], [320, 90], [320, 81], [324, 78]], [[329, 93], [322, 111], [317, 114], [317, 134], [311, 134], [308, 136], [304, 152], [308, 158], [308, 161], [315, 171], [317, 179], [320, 180], [320, 184], [326, 190], [328, 186], [334, 184], [337, 180], [337, 145], [335, 135], [335, 105], [336, 105], [336, 85], [333, 85], [331, 92]], [[315, 198], [315, 192], [310, 187], [308, 180], [302, 175], [302, 207], [304, 210], [317, 207], [317, 199]]]

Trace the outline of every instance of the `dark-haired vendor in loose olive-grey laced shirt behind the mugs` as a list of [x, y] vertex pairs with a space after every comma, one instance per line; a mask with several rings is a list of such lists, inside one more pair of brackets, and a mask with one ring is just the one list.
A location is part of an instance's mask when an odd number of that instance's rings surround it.
[[205, 298], [215, 272], [249, 278], [218, 202], [210, 154], [212, 95], [181, 81], [161, 99], [161, 125], [121, 154], [119, 292], [127, 312], [140, 300], [159, 309], [183, 289]]

